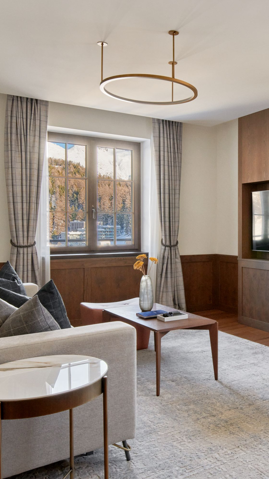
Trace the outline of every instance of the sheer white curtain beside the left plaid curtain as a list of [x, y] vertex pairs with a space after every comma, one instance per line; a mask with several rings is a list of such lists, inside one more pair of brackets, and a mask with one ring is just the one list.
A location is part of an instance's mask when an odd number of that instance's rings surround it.
[[50, 249], [49, 249], [49, 191], [48, 191], [48, 157], [47, 141], [43, 166], [40, 204], [36, 228], [36, 250], [39, 259], [40, 283], [45, 285], [50, 280]]

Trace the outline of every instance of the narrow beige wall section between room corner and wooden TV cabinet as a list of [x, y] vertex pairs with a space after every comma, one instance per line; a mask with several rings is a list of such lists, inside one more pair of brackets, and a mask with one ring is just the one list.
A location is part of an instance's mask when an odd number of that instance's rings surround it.
[[217, 135], [216, 252], [238, 254], [238, 120], [222, 123]]

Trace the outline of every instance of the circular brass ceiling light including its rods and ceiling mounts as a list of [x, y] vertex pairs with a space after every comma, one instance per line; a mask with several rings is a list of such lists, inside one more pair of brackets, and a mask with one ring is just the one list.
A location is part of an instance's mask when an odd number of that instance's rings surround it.
[[[169, 61], [169, 65], [172, 65], [172, 76], [171, 77], [166, 77], [163, 75], [150, 75], [149, 73], [127, 73], [124, 75], [114, 75], [113, 77], [107, 77], [103, 79], [103, 47], [107, 46], [106, 42], [98, 42], [97, 45], [101, 46], [101, 83], [100, 83], [100, 90], [105, 93], [106, 95], [116, 98], [117, 100], [122, 100], [123, 102], [130, 102], [130, 103], [143, 103], [146, 105], [178, 105], [179, 103], [187, 103], [191, 102], [194, 100], [198, 92], [196, 88], [191, 85], [190, 83], [187, 83], [186, 81], [179, 80], [175, 78], [175, 65], [177, 65], [177, 62], [175, 61], [175, 35], [178, 35], [179, 32], [176, 30], [169, 30], [168, 32], [169, 35], [173, 36], [173, 60]], [[112, 93], [109, 91], [106, 87], [109, 83], [112, 81], [117, 81], [117, 80], [123, 80], [123, 79], [130, 79], [130, 78], [149, 78], [151, 80], [160, 80], [160, 81], [168, 81], [171, 83], [172, 86], [172, 92], [171, 92], [171, 101], [170, 102], [145, 102], [144, 100], [135, 100], [133, 98], [125, 98], [123, 96], [116, 95], [115, 93]], [[174, 100], [174, 83], [182, 85], [186, 88], [189, 88], [189, 90], [192, 91], [191, 96], [188, 98], [184, 98], [183, 100]]]

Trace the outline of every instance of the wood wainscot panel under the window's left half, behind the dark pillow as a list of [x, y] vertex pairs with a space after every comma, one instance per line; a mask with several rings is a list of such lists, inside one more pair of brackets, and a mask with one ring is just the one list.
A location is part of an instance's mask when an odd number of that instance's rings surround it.
[[51, 279], [63, 298], [67, 316], [73, 324], [74, 320], [80, 318], [79, 304], [84, 301], [84, 268], [72, 267], [70, 263], [66, 268], [63, 264], [58, 265], [57, 269], [56, 266], [55, 261], [51, 262]]

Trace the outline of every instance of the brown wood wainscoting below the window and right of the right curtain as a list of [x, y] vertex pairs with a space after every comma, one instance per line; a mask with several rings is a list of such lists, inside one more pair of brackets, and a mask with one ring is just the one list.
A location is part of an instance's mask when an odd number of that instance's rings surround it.
[[[109, 302], [139, 296], [141, 274], [135, 258], [91, 258], [51, 261], [51, 278], [76, 323], [81, 302]], [[181, 256], [187, 310], [237, 308], [237, 258], [217, 254]], [[4, 263], [0, 263], [0, 267]]]

